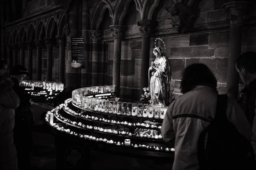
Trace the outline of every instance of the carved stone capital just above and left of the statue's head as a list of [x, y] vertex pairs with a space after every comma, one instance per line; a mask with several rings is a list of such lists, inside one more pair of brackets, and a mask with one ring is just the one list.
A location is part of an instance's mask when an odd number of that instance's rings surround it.
[[149, 36], [156, 28], [157, 22], [152, 20], [140, 20], [137, 21], [137, 25], [140, 27], [142, 36]]

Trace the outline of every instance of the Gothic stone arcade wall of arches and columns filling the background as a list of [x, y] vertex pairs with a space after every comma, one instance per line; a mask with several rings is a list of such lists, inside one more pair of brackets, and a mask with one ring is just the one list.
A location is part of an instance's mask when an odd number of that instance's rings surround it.
[[[256, 10], [244, 0], [1, 0], [1, 57], [24, 65], [32, 80], [67, 90], [116, 85], [138, 100], [148, 86], [155, 45], [166, 48], [172, 85], [191, 63], [209, 66], [230, 96], [239, 92], [234, 63], [256, 51]], [[169, 6], [169, 7], [168, 7]], [[71, 37], [85, 38], [84, 67], [71, 68]], [[155, 41], [156, 38], [162, 41]], [[240, 81], [241, 83], [241, 81]], [[227, 87], [227, 90], [226, 90]]]

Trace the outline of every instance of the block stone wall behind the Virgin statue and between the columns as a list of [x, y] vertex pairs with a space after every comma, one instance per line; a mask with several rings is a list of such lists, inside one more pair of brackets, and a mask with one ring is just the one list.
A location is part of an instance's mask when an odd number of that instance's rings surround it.
[[[169, 58], [172, 70], [172, 83], [175, 93], [180, 95], [180, 79], [183, 69], [192, 63], [204, 63], [218, 79], [221, 93], [226, 92], [227, 57], [229, 45], [229, 21], [225, 20], [225, 13], [221, 9], [224, 1], [202, 0], [198, 4], [200, 16], [193, 31], [177, 33], [170, 25], [169, 13], [163, 8], [157, 15], [157, 30], [152, 34], [151, 51], [156, 37], [161, 38], [166, 45], [166, 56]], [[163, 6], [168, 5], [165, 1]], [[249, 23], [251, 24], [251, 23]], [[122, 42], [121, 92], [122, 98], [139, 100], [140, 96], [140, 65], [142, 40], [137, 25], [128, 26], [127, 36]], [[105, 39], [111, 37], [110, 30], [105, 30]], [[242, 36], [242, 53], [256, 51], [256, 27], [246, 26]], [[163, 48], [163, 43], [157, 44]], [[150, 53], [150, 62], [154, 61]], [[108, 77], [113, 74], [113, 42], [108, 48]], [[241, 82], [241, 81], [240, 81]], [[111, 84], [111, 81], [109, 82]], [[241, 82], [242, 84], [242, 82]], [[240, 90], [243, 85], [240, 85]]]

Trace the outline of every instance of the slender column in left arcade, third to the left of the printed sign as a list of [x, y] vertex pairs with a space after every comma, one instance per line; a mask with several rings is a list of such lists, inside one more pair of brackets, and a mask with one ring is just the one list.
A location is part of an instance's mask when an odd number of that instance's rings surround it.
[[41, 81], [42, 79], [42, 40], [35, 40], [36, 45], [36, 80]]

